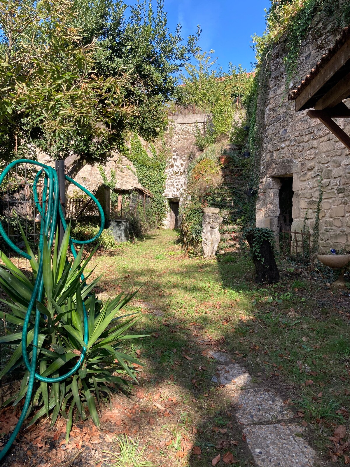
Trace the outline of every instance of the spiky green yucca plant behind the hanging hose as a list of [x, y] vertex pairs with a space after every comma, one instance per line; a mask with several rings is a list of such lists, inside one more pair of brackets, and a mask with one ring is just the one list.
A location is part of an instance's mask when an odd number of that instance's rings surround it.
[[[38, 261], [33, 254], [24, 233], [30, 264], [33, 271], [32, 280], [28, 279], [3, 253], [0, 257], [0, 285], [7, 293], [9, 300], [0, 299], [8, 305], [12, 313], [4, 313], [5, 319], [19, 327], [23, 326], [24, 317], [28, 309], [31, 293], [34, 289]], [[36, 303], [41, 313], [40, 333], [38, 340], [37, 372], [46, 377], [57, 377], [68, 373], [77, 363], [84, 345], [83, 329], [83, 303], [88, 313], [89, 340], [86, 357], [77, 374], [64, 380], [49, 384], [36, 382], [32, 404], [29, 413], [36, 410], [28, 426], [33, 424], [42, 415], [51, 416], [51, 425], [56, 423], [61, 415], [67, 420], [66, 441], [69, 440], [73, 419], [85, 419], [90, 413], [95, 425], [99, 427], [98, 409], [101, 409], [101, 393], [111, 400], [111, 387], [128, 384], [125, 376], [133, 380], [135, 374], [132, 364], [140, 365], [128, 354], [121, 351], [123, 342], [136, 339], [137, 335], [126, 334], [127, 330], [136, 322], [132, 314], [116, 316], [119, 310], [135, 295], [121, 293], [105, 304], [98, 300], [91, 292], [97, 285], [100, 277], [92, 280], [89, 285], [86, 281], [93, 270], [82, 280], [82, 275], [88, 266], [91, 256], [83, 256], [80, 249], [75, 260], [66, 259], [69, 247], [70, 227], [68, 227], [58, 250], [55, 244], [53, 257], [46, 239], [43, 241], [43, 283], [42, 301]], [[97, 247], [96, 247], [97, 248]], [[39, 259], [38, 259], [39, 260]], [[136, 293], [136, 292], [135, 292]], [[31, 348], [34, 334], [35, 310], [32, 311], [28, 327], [27, 349], [31, 358]], [[9, 371], [23, 363], [21, 351], [22, 333], [13, 333], [0, 338], [0, 343], [11, 346], [13, 354], [7, 365], [0, 372], [0, 379]], [[21, 388], [4, 405], [19, 404], [28, 389], [28, 371], [26, 371]], [[129, 378], [130, 380], [130, 378]]]

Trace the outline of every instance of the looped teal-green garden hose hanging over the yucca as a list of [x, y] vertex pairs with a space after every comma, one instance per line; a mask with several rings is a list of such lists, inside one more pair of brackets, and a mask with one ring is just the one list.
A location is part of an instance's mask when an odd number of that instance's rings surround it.
[[[41, 215], [42, 221], [41, 221], [41, 226], [40, 226], [40, 241], [39, 241], [39, 250], [41, 252], [40, 255], [40, 262], [39, 262], [39, 268], [38, 272], [36, 275], [36, 280], [35, 280], [35, 286], [34, 290], [28, 305], [26, 317], [24, 320], [23, 324], [23, 331], [22, 331], [22, 356], [24, 363], [29, 371], [29, 380], [28, 380], [28, 390], [27, 390], [27, 395], [26, 399], [23, 405], [22, 413], [21, 416], [18, 420], [17, 425], [14, 428], [14, 431], [7, 441], [7, 444], [2, 448], [0, 451], [0, 460], [2, 460], [10, 447], [12, 446], [16, 436], [18, 435], [19, 431], [21, 430], [21, 426], [26, 418], [27, 411], [31, 402], [31, 397], [32, 397], [32, 392], [33, 392], [33, 386], [35, 379], [41, 382], [47, 382], [47, 383], [55, 383], [55, 382], [61, 382], [67, 378], [69, 378], [71, 375], [73, 375], [77, 370], [81, 367], [85, 355], [86, 355], [86, 346], [89, 340], [89, 331], [88, 331], [88, 317], [87, 317], [87, 312], [86, 308], [83, 302], [83, 310], [84, 310], [84, 344], [85, 346], [83, 347], [82, 353], [80, 355], [79, 360], [77, 361], [76, 365], [74, 368], [72, 368], [68, 373], [65, 375], [59, 376], [57, 378], [47, 378], [44, 376], [41, 376], [40, 374], [36, 373], [36, 363], [37, 363], [37, 347], [38, 347], [38, 335], [39, 335], [39, 318], [40, 318], [40, 311], [38, 308], [36, 308], [35, 311], [35, 325], [34, 325], [34, 337], [33, 337], [33, 349], [32, 349], [32, 359], [29, 361], [29, 356], [27, 352], [27, 336], [28, 336], [28, 324], [29, 324], [29, 318], [31, 315], [31, 312], [34, 308], [34, 304], [36, 300], [38, 302], [41, 302], [42, 300], [42, 290], [43, 290], [43, 278], [42, 278], [42, 261], [43, 261], [43, 255], [42, 255], [42, 248], [43, 248], [43, 238], [44, 235], [48, 240], [48, 245], [49, 248], [51, 249], [53, 241], [54, 241], [54, 235], [56, 231], [56, 223], [57, 223], [57, 214], [59, 215], [59, 218], [61, 220], [61, 223], [63, 225], [64, 230], [67, 229], [67, 223], [66, 220], [64, 219], [63, 211], [62, 211], [62, 206], [61, 203], [59, 202], [59, 191], [58, 191], [58, 176], [56, 173], [56, 170], [54, 170], [52, 167], [49, 167], [48, 165], [42, 164], [40, 162], [36, 161], [31, 161], [28, 159], [20, 159], [18, 161], [14, 161], [10, 163], [7, 168], [2, 172], [0, 175], [0, 185], [3, 182], [4, 178], [7, 176], [8, 172], [13, 169], [14, 166], [17, 164], [31, 164], [35, 166], [39, 166], [41, 170], [38, 171], [38, 173], [35, 176], [34, 179], [34, 184], [33, 184], [33, 193], [34, 193], [34, 201], [35, 201], [35, 206], [38, 212]], [[39, 195], [37, 191], [37, 186], [38, 186], [38, 181], [40, 177], [44, 174], [44, 184], [43, 184], [43, 191], [42, 191], [42, 204], [40, 204], [39, 201]], [[98, 233], [91, 238], [90, 240], [87, 241], [79, 241], [79, 240], [74, 240], [70, 238], [70, 248], [72, 251], [72, 254], [74, 258], [77, 257], [77, 252], [74, 248], [74, 243], [77, 244], [86, 244], [86, 243], [91, 243], [92, 241], [95, 241], [98, 239], [98, 237], [101, 235], [104, 226], [105, 226], [105, 215], [102, 210], [101, 205], [99, 204], [98, 200], [95, 198], [95, 196], [88, 190], [86, 190], [82, 185], [78, 184], [74, 180], [72, 180], [70, 177], [65, 176], [65, 179], [68, 180], [70, 183], [74, 184], [80, 190], [84, 191], [92, 200], [96, 203], [98, 207], [98, 211], [101, 216], [101, 225], [99, 228]], [[7, 234], [5, 233], [5, 230], [0, 222], [0, 234], [3, 237], [3, 239], [6, 241], [7, 245], [14, 250], [15, 253], [18, 255], [23, 256], [24, 258], [30, 259], [30, 256], [23, 252], [20, 248], [18, 248], [14, 243], [8, 238]], [[82, 280], [84, 280], [84, 276], [82, 276]]]

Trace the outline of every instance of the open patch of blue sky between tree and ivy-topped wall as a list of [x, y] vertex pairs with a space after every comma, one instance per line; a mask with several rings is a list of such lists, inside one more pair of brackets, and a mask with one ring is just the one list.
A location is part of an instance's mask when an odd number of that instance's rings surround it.
[[261, 35], [265, 30], [264, 8], [270, 0], [165, 0], [168, 24], [175, 30], [182, 25], [182, 35], [187, 37], [201, 25], [199, 45], [203, 50], [214, 49], [217, 64], [228, 70], [229, 62], [242, 64], [252, 70], [254, 50], [251, 36]]

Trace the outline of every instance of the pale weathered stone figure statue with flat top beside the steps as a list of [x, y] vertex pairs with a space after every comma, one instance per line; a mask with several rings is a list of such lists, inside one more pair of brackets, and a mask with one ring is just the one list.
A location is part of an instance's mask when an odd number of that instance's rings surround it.
[[216, 207], [203, 208], [202, 248], [204, 258], [214, 257], [217, 252], [220, 241], [219, 225], [223, 221], [223, 218], [219, 216], [219, 211], [219, 208]]

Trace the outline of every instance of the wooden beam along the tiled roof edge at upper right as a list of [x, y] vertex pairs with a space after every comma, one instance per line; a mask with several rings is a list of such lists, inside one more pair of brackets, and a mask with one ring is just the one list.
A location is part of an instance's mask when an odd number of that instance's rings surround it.
[[315, 78], [305, 87], [295, 100], [295, 110], [301, 110], [303, 106], [318, 92], [340, 68], [350, 60], [350, 40], [329, 60]]

